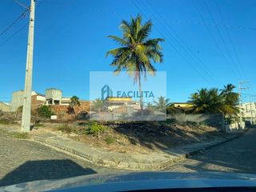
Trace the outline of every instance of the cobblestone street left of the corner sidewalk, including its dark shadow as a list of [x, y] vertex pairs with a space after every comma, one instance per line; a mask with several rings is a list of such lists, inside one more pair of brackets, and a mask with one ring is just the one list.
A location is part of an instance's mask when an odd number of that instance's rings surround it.
[[113, 170], [94, 166], [38, 142], [6, 137], [0, 132], [0, 186], [109, 171]]

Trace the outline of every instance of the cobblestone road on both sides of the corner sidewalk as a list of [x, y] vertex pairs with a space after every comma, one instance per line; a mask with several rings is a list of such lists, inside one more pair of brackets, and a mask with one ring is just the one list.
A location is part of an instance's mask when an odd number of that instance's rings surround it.
[[[256, 174], [256, 129], [248, 130], [242, 137], [195, 155], [168, 170]], [[8, 138], [0, 132], [0, 186], [111, 171], [114, 170], [94, 166], [38, 142]]]

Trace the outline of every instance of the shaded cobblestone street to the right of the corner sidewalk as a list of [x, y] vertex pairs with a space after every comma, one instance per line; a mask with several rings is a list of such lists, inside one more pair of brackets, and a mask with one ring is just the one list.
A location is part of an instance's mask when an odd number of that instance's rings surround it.
[[256, 174], [256, 129], [171, 166], [175, 172], [225, 171]]

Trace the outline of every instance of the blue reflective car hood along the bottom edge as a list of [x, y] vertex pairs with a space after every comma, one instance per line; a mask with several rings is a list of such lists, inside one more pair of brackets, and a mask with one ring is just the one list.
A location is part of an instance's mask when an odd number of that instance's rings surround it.
[[[2, 191], [45, 191], [63, 190], [81, 186], [104, 186], [114, 183], [136, 184], [145, 182], [147, 186], [168, 183], [178, 187], [256, 186], [256, 174], [236, 174], [219, 172], [174, 173], [174, 172], [122, 172], [118, 174], [90, 174], [73, 178], [39, 180], [0, 187]], [[243, 184], [242, 184], [243, 183]], [[169, 185], [170, 186], [170, 185]], [[78, 188], [76, 188], [78, 189]], [[104, 188], [103, 188], [104, 189]], [[92, 191], [93, 188], [90, 189]], [[120, 190], [120, 189], [119, 189]], [[125, 189], [127, 190], [127, 189]], [[129, 189], [128, 189], [129, 190]], [[71, 191], [71, 190], [70, 190]], [[89, 191], [89, 190], [88, 190]]]

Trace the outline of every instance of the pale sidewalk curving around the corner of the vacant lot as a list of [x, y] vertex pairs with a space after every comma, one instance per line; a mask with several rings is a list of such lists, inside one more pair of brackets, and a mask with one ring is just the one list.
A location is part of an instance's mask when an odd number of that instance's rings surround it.
[[[18, 131], [17, 127], [10, 129], [5, 126], [0, 126], [0, 129]], [[64, 134], [58, 134], [58, 132], [30, 132], [31, 139], [36, 142], [41, 142], [47, 146], [52, 146], [70, 154], [78, 155], [98, 166], [112, 166], [114, 168], [127, 170], [162, 170], [175, 162], [184, 160], [190, 155], [197, 154], [210, 147], [238, 138], [242, 134], [243, 132], [231, 134], [228, 137], [214, 139], [209, 142], [194, 143], [189, 146], [180, 146], [170, 150], [152, 152], [150, 154], [123, 154], [96, 148], [82, 142], [76, 142], [70, 138], [66, 138]]]

